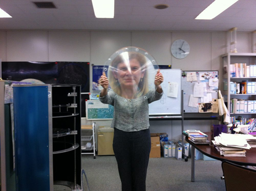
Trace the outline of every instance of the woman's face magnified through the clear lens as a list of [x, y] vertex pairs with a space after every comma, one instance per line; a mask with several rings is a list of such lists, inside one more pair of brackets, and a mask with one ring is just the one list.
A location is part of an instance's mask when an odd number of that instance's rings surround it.
[[144, 71], [141, 71], [141, 65], [136, 59], [131, 59], [130, 63], [124, 62], [117, 65], [118, 73], [114, 73], [115, 78], [121, 86], [136, 87], [141, 78], [144, 77]]

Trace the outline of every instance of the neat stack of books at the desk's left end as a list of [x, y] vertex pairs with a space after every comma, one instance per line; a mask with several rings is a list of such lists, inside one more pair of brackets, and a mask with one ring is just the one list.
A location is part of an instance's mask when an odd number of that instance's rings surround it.
[[188, 136], [188, 139], [194, 144], [210, 144], [210, 141], [207, 140], [208, 135], [198, 130], [186, 130], [183, 131], [185, 135]]

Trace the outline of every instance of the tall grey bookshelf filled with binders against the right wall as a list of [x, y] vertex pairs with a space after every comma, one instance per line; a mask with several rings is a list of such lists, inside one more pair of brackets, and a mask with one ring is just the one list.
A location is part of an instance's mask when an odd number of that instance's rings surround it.
[[[249, 65], [256, 65], [256, 53], [228, 53], [225, 55], [222, 55], [222, 59], [223, 59], [223, 97], [224, 100], [227, 102], [227, 108], [228, 111], [230, 112], [230, 116], [242, 116], [245, 118], [256, 118], [256, 112], [252, 111], [252, 112], [248, 112], [248, 111], [243, 111], [243, 112], [237, 112], [234, 113], [232, 112], [232, 109], [230, 107], [230, 101], [232, 99], [241, 99], [241, 100], [245, 100], [245, 101], [254, 101], [256, 100], [256, 91], [253, 93], [239, 93], [239, 94], [231, 94], [230, 93], [230, 83], [242, 83], [242, 81], [247, 81], [246, 84], [248, 84], [248, 82], [255, 82], [256, 84], [256, 75], [253, 77], [247, 77], [246, 76], [241, 76], [239, 75], [239, 77], [232, 77], [231, 73], [233, 72], [233, 68], [231, 64], [235, 64], [235, 63], [246, 63], [246, 66]], [[242, 70], [243, 70], [242, 66]], [[246, 70], [246, 68], [245, 68]], [[238, 70], [235, 70], [238, 71]], [[248, 70], [247, 70], [248, 71]], [[244, 71], [242, 73], [242, 75], [246, 73], [246, 71]], [[236, 75], [235, 75], [236, 76]], [[247, 85], [246, 85], [247, 88]], [[256, 88], [255, 88], [256, 90]], [[247, 106], [248, 107], [248, 106]], [[248, 109], [248, 108], [247, 108]]]

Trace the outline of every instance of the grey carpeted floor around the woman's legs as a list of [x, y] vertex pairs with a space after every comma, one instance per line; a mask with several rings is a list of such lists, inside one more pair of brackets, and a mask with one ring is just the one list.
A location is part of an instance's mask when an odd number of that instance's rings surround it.
[[[221, 161], [196, 160], [195, 182], [190, 181], [190, 158], [187, 162], [176, 158], [151, 158], [148, 171], [147, 191], [225, 191], [225, 182], [221, 180]], [[82, 156], [82, 169], [86, 172], [90, 191], [121, 191], [115, 156]], [[54, 190], [71, 190], [54, 186]], [[87, 191], [83, 177], [83, 190]]]

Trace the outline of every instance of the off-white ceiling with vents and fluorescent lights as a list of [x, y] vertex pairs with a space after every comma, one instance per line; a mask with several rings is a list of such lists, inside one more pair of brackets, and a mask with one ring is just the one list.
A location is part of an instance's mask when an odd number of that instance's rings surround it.
[[[224, 0], [223, 0], [224, 1]], [[38, 9], [32, 2], [53, 2], [57, 9]], [[239, 0], [212, 20], [195, 17], [214, 0], [115, 0], [114, 18], [95, 18], [91, 0], [0, 0], [13, 18], [0, 18], [0, 30], [256, 30], [256, 1]], [[167, 4], [167, 9], [154, 6]]]

